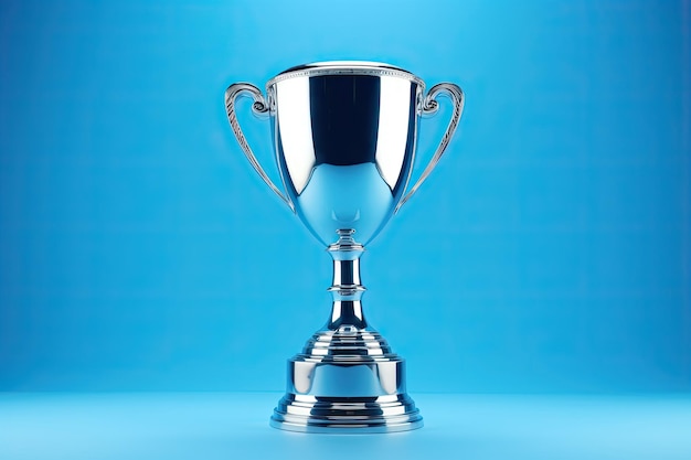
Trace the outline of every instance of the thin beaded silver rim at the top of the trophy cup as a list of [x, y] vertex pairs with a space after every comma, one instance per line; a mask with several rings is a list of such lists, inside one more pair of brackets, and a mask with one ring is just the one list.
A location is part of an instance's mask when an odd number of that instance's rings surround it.
[[396, 67], [395, 65], [373, 61], [323, 61], [296, 65], [269, 79], [266, 84], [266, 88], [268, 89], [276, 83], [289, 78], [325, 75], [393, 76], [416, 83], [423, 90], [425, 88], [425, 82], [412, 72]]

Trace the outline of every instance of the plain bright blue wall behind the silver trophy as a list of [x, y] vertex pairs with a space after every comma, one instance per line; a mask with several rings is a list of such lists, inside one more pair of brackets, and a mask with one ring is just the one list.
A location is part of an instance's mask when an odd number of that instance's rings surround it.
[[413, 395], [691, 391], [690, 23], [688, 1], [3, 1], [0, 389], [280, 391], [330, 259], [223, 92], [354, 58], [467, 96], [363, 259]]

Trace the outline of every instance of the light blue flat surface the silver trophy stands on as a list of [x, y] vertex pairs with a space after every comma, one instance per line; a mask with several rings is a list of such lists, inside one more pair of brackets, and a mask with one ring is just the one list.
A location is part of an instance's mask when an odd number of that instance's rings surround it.
[[679, 396], [419, 395], [425, 427], [304, 435], [268, 427], [278, 394], [0, 395], [0, 458], [688, 460]]

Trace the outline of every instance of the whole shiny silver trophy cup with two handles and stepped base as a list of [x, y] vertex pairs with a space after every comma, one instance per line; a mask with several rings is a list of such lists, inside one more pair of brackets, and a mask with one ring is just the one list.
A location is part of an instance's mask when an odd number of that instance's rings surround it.
[[[270, 419], [307, 432], [389, 432], [419, 428], [406, 393], [405, 361], [365, 320], [360, 256], [436, 167], [456, 130], [461, 89], [433, 86], [387, 64], [323, 62], [289, 68], [266, 84], [225, 92], [228, 121], [264, 182], [297, 214], [333, 259], [329, 320], [288, 361], [286, 395]], [[454, 113], [442, 142], [407, 191], [417, 122], [447, 95]], [[283, 190], [264, 172], [240, 128], [238, 96], [268, 114]]]

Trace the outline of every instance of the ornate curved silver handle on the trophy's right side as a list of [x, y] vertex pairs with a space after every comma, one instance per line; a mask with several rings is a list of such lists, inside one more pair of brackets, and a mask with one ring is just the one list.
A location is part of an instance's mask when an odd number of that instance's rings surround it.
[[411, 199], [411, 196], [413, 196], [413, 194], [417, 191], [417, 189], [419, 189], [422, 183], [425, 182], [425, 179], [427, 179], [432, 170], [435, 169], [435, 167], [442, 159], [442, 156], [446, 151], [448, 142], [451, 140], [454, 132], [456, 132], [456, 128], [458, 127], [458, 120], [460, 120], [460, 115], [464, 110], [464, 92], [458, 85], [455, 85], [453, 83], [439, 83], [438, 85], [434, 85], [432, 88], [429, 88], [429, 92], [427, 93], [427, 96], [425, 96], [425, 99], [423, 101], [423, 115], [436, 114], [439, 108], [439, 103], [437, 103], [436, 97], [439, 94], [445, 94], [451, 99], [451, 101], [454, 103], [454, 115], [451, 115], [451, 119], [448, 122], [446, 132], [442, 138], [442, 142], [439, 142], [439, 147], [437, 147], [437, 150], [434, 152], [432, 160], [429, 160], [429, 163], [423, 171], [415, 185], [413, 185], [407, 194], [403, 196], [403, 199], [398, 202], [396, 208], [394, 210], [394, 214], [398, 212], [401, 206], [403, 206], [405, 202]]

